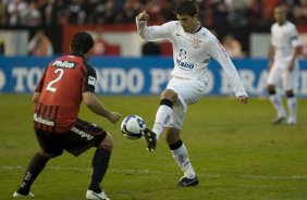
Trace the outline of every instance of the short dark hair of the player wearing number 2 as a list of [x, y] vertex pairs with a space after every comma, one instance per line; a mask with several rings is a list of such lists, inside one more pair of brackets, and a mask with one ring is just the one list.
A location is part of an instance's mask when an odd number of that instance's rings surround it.
[[91, 35], [86, 32], [76, 33], [71, 41], [71, 51], [74, 53], [87, 53], [94, 46]]

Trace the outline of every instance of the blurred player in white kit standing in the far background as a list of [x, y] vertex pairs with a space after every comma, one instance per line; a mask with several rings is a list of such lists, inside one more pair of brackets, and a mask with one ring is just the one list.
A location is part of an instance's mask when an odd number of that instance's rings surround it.
[[281, 93], [275, 87], [282, 84], [287, 98], [288, 117], [287, 124], [295, 125], [297, 122], [297, 100], [294, 93], [298, 85], [298, 61], [300, 41], [297, 30], [291, 22], [286, 21], [286, 8], [274, 8], [275, 23], [271, 26], [271, 46], [269, 52], [269, 99], [277, 110], [277, 118], [272, 124], [280, 124], [286, 120], [286, 112], [282, 103]]

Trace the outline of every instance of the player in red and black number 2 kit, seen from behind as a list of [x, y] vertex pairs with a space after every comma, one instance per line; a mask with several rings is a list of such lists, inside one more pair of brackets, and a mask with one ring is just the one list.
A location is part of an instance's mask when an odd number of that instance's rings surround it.
[[[86, 199], [108, 200], [101, 182], [108, 170], [113, 142], [103, 128], [78, 118], [82, 101], [94, 113], [115, 124], [121, 115], [110, 111], [95, 95], [96, 72], [87, 63], [94, 46], [93, 37], [76, 33], [71, 41], [71, 54], [50, 62], [33, 96], [34, 129], [41, 147], [26, 170], [24, 179], [13, 197], [34, 197], [30, 186], [47, 162], [67, 151], [75, 157], [96, 147], [91, 166], [91, 182]], [[51, 187], [51, 186], [50, 186]]]

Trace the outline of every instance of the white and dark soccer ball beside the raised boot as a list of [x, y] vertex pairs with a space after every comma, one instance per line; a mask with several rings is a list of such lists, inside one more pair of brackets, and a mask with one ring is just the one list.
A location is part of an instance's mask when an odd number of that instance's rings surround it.
[[130, 115], [126, 116], [121, 125], [123, 135], [128, 139], [138, 139], [143, 136], [146, 124], [140, 116]]

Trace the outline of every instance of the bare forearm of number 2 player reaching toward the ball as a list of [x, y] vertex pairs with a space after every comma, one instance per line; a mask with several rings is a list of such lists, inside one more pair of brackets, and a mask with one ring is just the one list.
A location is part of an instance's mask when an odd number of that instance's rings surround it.
[[118, 112], [112, 112], [108, 108], [106, 108], [99, 99], [96, 97], [95, 93], [87, 91], [82, 93], [83, 101], [87, 105], [87, 108], [93, 111], [94, 113], [105, 116], [111, 123], [115, 124], [120, 118], [121, 114]]

